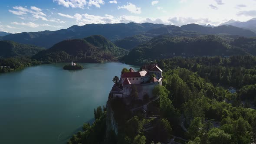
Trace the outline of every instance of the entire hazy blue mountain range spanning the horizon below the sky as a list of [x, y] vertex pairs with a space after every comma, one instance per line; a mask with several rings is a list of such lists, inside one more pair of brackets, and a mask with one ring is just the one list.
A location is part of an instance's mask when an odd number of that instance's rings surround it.
[[[44, 48], [50, 48], [54, 44], [66, 39], [83, 39], [91, 35], [102, 35], [112, 42], [134, 35], [144, 35], [154, 37], [161, 34], [171, 34], [173, 36], [197, 36], [200, 34], [220, 34], [239, 35], [245, 37], [255, 37], [256, 33], [235, 26], [205, 27], [197, 24], [184, 26], [173, 26], [153, 23], [116, 23], [116, 24], [87, 24], [84, 26], [71, 26], [68, 29], [56, 31], [17, 33], [3, 36], [2, 40], [11, 40], [23, 44], [32, 44]], [[130, 39], [130, 38], [128, 38]], [[118, 42], [116, 42], [118, 43]], [[137, 45], [137, 44], [136, 44]], [[135, 46], [136, 46], [135, 45]], [[134, 46], [134, 45], [132, 45]], [[125, 48], [125, 47], [123, 47]]]

